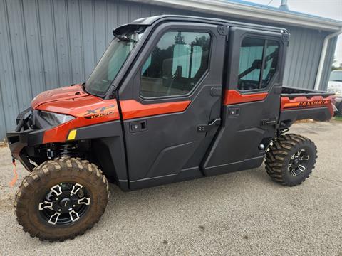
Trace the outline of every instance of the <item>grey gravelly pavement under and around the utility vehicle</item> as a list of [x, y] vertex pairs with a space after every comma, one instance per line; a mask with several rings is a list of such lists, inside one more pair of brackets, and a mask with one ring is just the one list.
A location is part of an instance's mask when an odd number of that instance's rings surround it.
[[[21, 230], [2, 148], [0, 255], [342, 256], [342, 122], [299, 123], [291, 132], [318, 147], [316, 169], [301, 186], [273, 183], [264, 166], [132, 192], [112, 185], [100, 222], [63, 243]], [[19, 166], [19, 182], [26, 174]]]

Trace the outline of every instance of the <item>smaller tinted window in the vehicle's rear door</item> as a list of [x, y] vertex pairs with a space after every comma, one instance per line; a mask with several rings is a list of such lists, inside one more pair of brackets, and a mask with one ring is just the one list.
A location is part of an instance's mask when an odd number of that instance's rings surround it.
[[240, 48], [238, 89], [247, 91], [267, 87], [276, 73], [278, 56], [277, 41], [244, 38]]

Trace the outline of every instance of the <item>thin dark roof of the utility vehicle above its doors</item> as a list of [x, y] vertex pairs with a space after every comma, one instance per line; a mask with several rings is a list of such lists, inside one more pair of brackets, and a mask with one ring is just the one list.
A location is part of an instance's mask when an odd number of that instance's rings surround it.
[[162, 21], [190, 21], [190, 22], [199, 22], [199, 23], [215, 23], [222, 26], [242, 26], [249, 28], [257, 28], [266, 31], [276, 31], [276, 32], [284, 32], [286, 28], [280, 28], [276, 26], [264, 26], [254, 23], [244, 23], [237, 21], [229, 21], [222, 18], [206, 18], [206, 17], [198, 17], [198, 16], [185, 16], [185, 15], [159, 15], [159, 16], [151, 16], [147, 18], [138, 18], [130, 24], [140, 24], [140, 25], [152, 25], [153, 23], [162, 22]]

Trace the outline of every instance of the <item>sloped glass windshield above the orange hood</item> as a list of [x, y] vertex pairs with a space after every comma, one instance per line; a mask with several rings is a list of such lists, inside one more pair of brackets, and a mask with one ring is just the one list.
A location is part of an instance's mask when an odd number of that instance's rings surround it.
[[98, 96], [105, 95], [144, 30], [144, 27], [138, 29], [137, 26], [128, 27], [125, 28], [125, 31], [120, 31], [120, 34], [115, 35], [86, 82], [85, 89], [88, 93]]

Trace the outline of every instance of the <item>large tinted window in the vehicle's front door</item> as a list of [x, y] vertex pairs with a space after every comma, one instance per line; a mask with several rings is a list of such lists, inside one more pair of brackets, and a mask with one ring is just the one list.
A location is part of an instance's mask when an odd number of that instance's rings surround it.
[[141, 70], [140, 95], [186, 95], [208, 69], [209, 33], [165, 33]]

